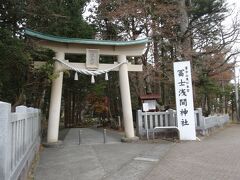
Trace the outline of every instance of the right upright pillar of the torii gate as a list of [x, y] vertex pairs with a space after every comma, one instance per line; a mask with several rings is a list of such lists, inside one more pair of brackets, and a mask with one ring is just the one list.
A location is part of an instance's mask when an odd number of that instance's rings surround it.
[[[118, 62], [126, 62], [126, 56], [119, 55]], [[122, 64], [119, 68], [119, 82], [122, 99], [123, 122], [126, 138], [134, 138], [132, 104], [130, 97], [129, 79], [128, 79], [128, 65]]]

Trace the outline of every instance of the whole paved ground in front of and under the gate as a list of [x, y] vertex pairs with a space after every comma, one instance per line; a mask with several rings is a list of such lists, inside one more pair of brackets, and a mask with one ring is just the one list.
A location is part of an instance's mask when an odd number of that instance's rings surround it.
[[[239, 180], [240, 125], [201, 142], [120, 143], [120, 135], [71, 129], [61, 149], [44, 149], [36, 180]], [[85, 134], [85, 135], [84, 135]], [[111, 135], [110, 135], [111, 134]]]

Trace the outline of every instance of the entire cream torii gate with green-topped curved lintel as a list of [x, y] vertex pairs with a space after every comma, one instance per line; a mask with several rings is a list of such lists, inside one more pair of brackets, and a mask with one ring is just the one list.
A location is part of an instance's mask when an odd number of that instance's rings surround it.
[[[92, 76], [96, 72], [107, 73], [110, 70], [119, 71], [120, 93], [122, 99], [123, 122], [127, 139], [135, 139], [132, 105], [129, 88], [128, 71], [142, 71], [142, 65], [127, 63], [127, 56], [141, 56], [148, 39], [135, 41], [106, 41], [78, 38], [65, 38], [43, 34], [25, 29], [25, 34], [38, 39], [38, 45], [52, 49], [55, 52], [54, 72], [59, 76], [52, 81], [51, 99], [48, 119], [47, 143], [57, 143], [60, 121], [60, 107], [62, 96], [63, 70], [72, 69], [76, 72], [85, 71]], [[93, 53], [91, 54], [91, 50]], [[95, 51], [95, 52], [94, 52]], [[97, 53], [96, 53], [97, 52]], [[91, 64], [93, 69], [86, 68], [85, 63], [70, 63], [65, 60], [65, 53], [87, 54], [94, 58], [99, 55], [117, 56], [118, 64]], [[91, 61], [91, 60], [90, 60]], [[98, 67], [95, 67], [95, 66]]]

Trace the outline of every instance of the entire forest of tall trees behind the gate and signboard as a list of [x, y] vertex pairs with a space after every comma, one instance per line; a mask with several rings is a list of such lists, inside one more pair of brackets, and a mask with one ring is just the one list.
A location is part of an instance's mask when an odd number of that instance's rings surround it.
[[[162, 110], [175, 108], [173, 62], [189, 60], [192, 66], [194, 106], [204, 115], [232, 113], [235, 109], [233, 49], [239, 40], [236, 15], [228, 26], [224, 21], [232, 9], [225, 0], [6, 0], [0, 8], [0, 101], [14, 107], [41, 108], [48, 114], [54, 52], [36, 46], [25, 37], [24, 28], [74, 38], [127, 41], [148, 37], [141, 57], [142, 73], [129, 73], [132, 106], [141, 109], [140, 95], [160, 94]], [[88, 10], [88, 17], [83, 14]], [[85, 62], [85, 56], [66, 54], [71, 62]], [[33, 61], [46, 61], [39, 69]], [[116, 57], [100, 57], [111, 63]], [[73, 72], [64, 73], [62, 114], [70, 102], [80, 121], [85, 114], [121, 114], [118, 74], [109, 80], [98, 77], [95, 84]], [[106, 100], [107, 99], [107, 100]], [[107, 101], [107, 102], [106, 102]], [[64, 113], [65, 112], [65, 113]], [[93, 113], [94, 112], [94, 113]], [[69, 113], [68, 113], [69, 114]]]

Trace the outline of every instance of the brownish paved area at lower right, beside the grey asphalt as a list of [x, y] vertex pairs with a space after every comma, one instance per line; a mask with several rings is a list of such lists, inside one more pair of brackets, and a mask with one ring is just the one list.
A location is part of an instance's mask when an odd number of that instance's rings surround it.
[[239, 180], [240, 125], [201, 142], [179, 143], [146, 176], [147, 180]]

